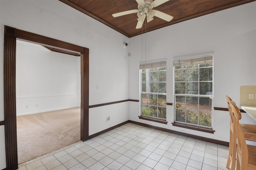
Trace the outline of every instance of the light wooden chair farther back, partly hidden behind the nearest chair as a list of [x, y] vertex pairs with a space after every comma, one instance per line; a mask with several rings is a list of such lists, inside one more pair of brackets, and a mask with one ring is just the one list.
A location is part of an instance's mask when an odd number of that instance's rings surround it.
[[[236, 166], [236, 135], [234, 135], [234, 130], [236, 131], [236, 129], [234, 129], [232, 108], [230, 106], [230, 102], [232, 101], [232, 99], [226, 96], [226, 100], [228, 102], [228, 111], [230, 114], [230, 137], [229, 137], [229, 150], [228, 150], [228, 160], [227, 160], [226, 168], [229, 168], [231, 163], [230, 170], [234, 170]], [[240, 127], [244, 133], [244, 137], [246, 140], [256, 141], [256, 125], [240, 123]]]

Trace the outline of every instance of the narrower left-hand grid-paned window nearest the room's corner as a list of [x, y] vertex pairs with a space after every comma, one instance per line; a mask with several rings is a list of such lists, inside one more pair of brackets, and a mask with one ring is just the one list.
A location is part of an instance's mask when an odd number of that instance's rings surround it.
[[140, 63], [141, 116], [166, 120], [166, 59]]

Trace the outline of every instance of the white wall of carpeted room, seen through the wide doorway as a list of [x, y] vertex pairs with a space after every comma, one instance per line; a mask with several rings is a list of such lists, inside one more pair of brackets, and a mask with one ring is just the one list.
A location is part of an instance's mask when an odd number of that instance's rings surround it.
[[80, 57], [17, 40], [17, 115], [79, 107], [79, 99]]

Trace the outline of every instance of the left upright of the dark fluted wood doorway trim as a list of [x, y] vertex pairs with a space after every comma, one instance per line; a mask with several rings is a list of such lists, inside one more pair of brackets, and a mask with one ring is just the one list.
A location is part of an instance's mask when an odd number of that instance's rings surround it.
[[16, 127], [16, 29], [4, 27], [4, 134], [6, 169], [18, 169]]

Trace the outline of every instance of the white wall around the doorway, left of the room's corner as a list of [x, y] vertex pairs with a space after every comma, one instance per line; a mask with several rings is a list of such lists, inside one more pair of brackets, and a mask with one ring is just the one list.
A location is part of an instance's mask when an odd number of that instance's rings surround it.
[[[3, 70], [4, 25], [88, 48], [89, 105], [128, 99], [128, 48], [123, 43], [129, 43], [129, 39], [124, 35], [58, 0], [0, 0], [0, 70]], [[0, 121], [3, 121], [3, 71], [0, 82]], [[104, 111], [101, 107], [89, 109], [89, 134], [127, 121], [128, 104], [113, 104]], [[112, 119], [107, 122], [109, 114]], [[0, 169], [3, 169], [6, 167], [4, 126], [0, 128]]]

